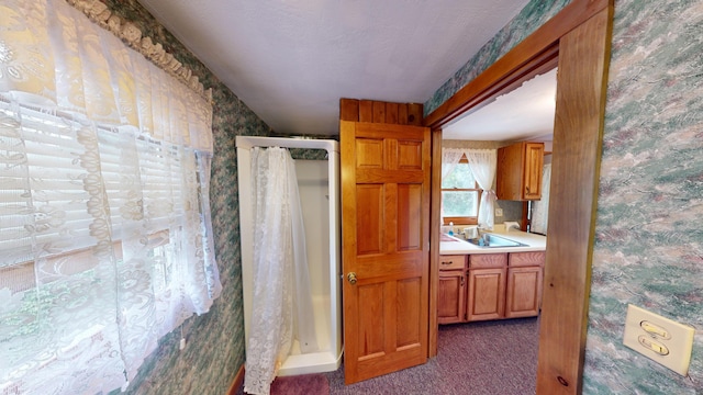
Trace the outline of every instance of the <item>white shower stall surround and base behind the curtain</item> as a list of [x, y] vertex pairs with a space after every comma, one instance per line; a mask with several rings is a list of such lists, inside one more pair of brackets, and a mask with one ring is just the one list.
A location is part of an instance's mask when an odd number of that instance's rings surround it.
[[[298, 188], [305, 226], [308, 267], [313, 296], [319, 351], [301, 353], [293, 343], [279, 376], [328, 372], [342, 361], [342, 291], [339, 230], [339, 144], [335, 140], [237, 136], [239, 230], [244, 329], [248, 347], [252, 318], [254, 224], [252, 155], [254, 147], [324, 149], [327, 160], [295, 160]], [[248, 350], [247, 350], [248, 353]]]

